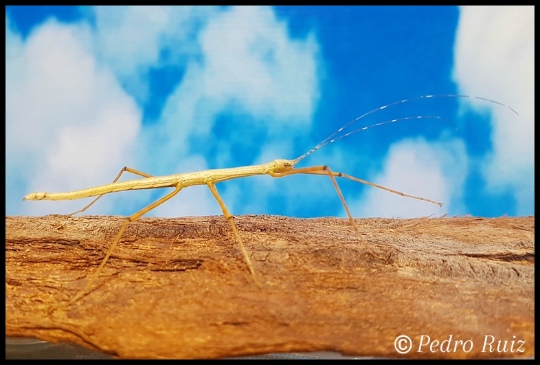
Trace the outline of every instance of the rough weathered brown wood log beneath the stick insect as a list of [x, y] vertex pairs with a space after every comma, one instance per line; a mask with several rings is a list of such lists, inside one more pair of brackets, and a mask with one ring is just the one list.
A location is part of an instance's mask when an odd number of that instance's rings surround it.
[[[365, 253], [346, 219], [235, 220], [262, 289], [223, 217], [142, 218], [91, 293], [49, 313], [84, 287], [122, 217], [6, 217], [6, 336], [139, 358], [535, 353], [535, 217], [358, 219], [385, 261]], [[394, 349], [398, 335], [413, 341], [405, 355]], [[451, 335], [451, 352], [418, 352], [422, 335]], [[493, 352], [482, 352], [485, 336]], [[454, 352], [455, 340], [473, 348]]]

